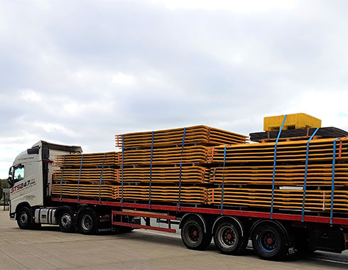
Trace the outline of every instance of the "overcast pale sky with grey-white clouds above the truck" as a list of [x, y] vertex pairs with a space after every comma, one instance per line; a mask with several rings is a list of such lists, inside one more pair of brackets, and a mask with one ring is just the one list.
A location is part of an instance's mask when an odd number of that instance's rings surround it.
[[40, 139], [304, 112], [348, 129], [348, 1], [1, 1], [0, 178]]

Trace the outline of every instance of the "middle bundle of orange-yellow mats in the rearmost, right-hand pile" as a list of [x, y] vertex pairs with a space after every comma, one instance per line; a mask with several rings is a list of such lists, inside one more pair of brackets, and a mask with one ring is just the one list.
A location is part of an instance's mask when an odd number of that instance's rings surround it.
[[[307, 185], [331, 185], [332, 164], [308, 165]], [[211, 168], [210, 183], [271, 185], [273, 166], [227, 166]], [[303, 185], [305, 165], [276, 166], [276, 185]], [[348, 164], [335, 166], [335, 185], [348, 185]]]

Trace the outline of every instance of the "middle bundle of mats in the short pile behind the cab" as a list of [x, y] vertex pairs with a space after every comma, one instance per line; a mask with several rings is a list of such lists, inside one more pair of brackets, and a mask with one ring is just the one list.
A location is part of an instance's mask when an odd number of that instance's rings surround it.
[[[53, 181], [99, 182], [101, 175], [102, 168], [64, 168], [55, 170]], [[104, 168], [102, 181], [116, 181], [116, 169]]]

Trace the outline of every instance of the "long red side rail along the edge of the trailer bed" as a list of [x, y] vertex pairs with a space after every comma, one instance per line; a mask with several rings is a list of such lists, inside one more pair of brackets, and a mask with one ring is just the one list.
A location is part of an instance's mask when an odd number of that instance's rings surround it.
[[[71, 203], [82, 203], [89, 205], [106, 205], [106, 206], [114, 206], [114, 207], [129, 207], [129, 208], [137, 208], [137, 209], [148, 209], [147, 204], [141, 203], [128, 203], [128, 202], [108, 202], [99, 200], [77, 200], [70, 198], [51, 198], [53, 202], [71, 202]], [[173, 211], [179, 212], [178, 206], [170, 206], [170, 205], [151, 205], [151, 210], [163, 210], [163, 211]], [[203, 214], [215, 214], [220, 215], [221, 210], [213, 209], [213, 208], [204, 208], [204, 207], [180, 207], [180, 212], [196, 212]], [[232, 215], [239, 217], [259, 217], [259, 218], [271, 218], [271, 213], [268, 212], [256, 212], [256, 211], [242, 211], [242, 210], [223, 210], [222, 215]], [[301, 221], [301, 215], [295, 214], [281, 214], [281, 213], [273, 213], [274, 220], [290, 220], [290, 221]], [[318, 216], [305, 216], [305, 222], [319, 222], [319, 223], [330, 223], [330, 217], [318, 217]], [[348, 226], [348, 218], [343, 217], [334, 217], [332, 219], [333, 225], [345, 225]]]

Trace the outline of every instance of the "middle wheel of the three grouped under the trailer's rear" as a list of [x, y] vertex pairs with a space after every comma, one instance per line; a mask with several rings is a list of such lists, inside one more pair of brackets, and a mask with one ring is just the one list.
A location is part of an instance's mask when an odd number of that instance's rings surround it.
[[224, 221], [214, 229], [214, 244], [222, 254], [238, 255], [245, 251], [248, 237], [242, 237], [241, 227], [236, 222]]

